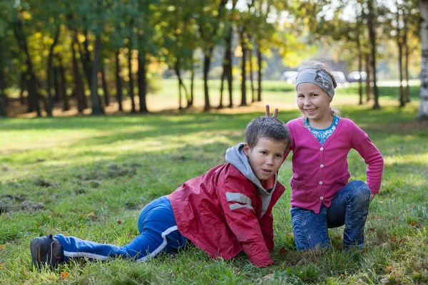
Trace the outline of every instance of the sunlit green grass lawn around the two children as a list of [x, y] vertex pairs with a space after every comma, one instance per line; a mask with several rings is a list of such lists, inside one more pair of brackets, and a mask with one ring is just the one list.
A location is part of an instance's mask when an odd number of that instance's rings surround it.
[[[280, 106], [281, 120], [298, 115], [292, 88], [265, 88], [265, 103]], [[141, 208], [223, 163], [225, 150], [243, 141], [245, 125], [262, 114], [263, 103], [235, 108], [236, 114], [6, 119], [0, 121], [0, 284], [428, 284], [428, 125], [414, 122], [417, 103], [397, 108], [397, 90], [383, 90], [383, 108], [371, 110], [356, 105], [352, 88], [337, 90], [333, 102], [370, 135], [385, 160], [362, 252], [342, 252], [343, 228], [330, 230], [331, 250], [296, 252], [288, 158], [280, 170], [287, 191], [273, 213], [273, 266], [258, 269], [245, 254], [212, 260], [188, 248], [144, 264], [81, 260], [32, 271], [29, 242], [36, 236], [131, 241]], [[362, 158], [355, 151], [348, 157], [352, 179], [365, 180]]]

